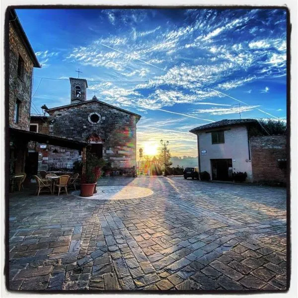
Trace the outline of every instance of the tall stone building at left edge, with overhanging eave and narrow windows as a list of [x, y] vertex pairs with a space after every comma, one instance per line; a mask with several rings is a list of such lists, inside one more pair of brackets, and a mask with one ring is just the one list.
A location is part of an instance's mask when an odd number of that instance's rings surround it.
[[[6, 88], [8, 114], [6, 116], [10, 128], [29, 131], [33, 68], [41, 66], [14, 9], [9, 10], [6, 16], [8, 19], [8, 85]], [[9, 135], [9, 171], [11, 173], [24, 171], [27, 143], [12, 134]]]

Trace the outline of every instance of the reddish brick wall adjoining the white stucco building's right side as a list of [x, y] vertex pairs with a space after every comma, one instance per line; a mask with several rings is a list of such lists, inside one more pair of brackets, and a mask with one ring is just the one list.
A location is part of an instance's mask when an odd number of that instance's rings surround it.
[[286, 169], [279, 168], [278, 159], [287, 158], [287, 136], [250, 138], [253, 181], [286, 182]]

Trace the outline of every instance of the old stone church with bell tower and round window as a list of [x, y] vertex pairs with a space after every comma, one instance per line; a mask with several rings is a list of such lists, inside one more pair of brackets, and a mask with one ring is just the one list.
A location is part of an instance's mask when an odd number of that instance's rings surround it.
[[[141, 116], [99, 101], [95, 95], [87, 100], [88, 84], [83, 78], [70, 77], [70, 83], [70, 104], [46, 109], [49, 116], [31, 115], [30, 131], [86, 142], [113, 169], [136, 166], [136, 125]], [[80, 159], [78, 150], [32, 142], [29, 146], [29, 160], [36, 163], [36, 170], [47, 170], [52, 164], [67, 164], [71, 169]]]

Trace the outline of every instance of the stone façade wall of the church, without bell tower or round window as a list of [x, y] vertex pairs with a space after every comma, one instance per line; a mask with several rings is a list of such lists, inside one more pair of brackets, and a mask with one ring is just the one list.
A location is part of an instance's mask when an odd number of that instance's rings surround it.
[[[97, 112], [101, 121], [93, 125], [88, 116]], [[38, 132], [54, 136], [86, 142], [91, 134], [97, 134], [105, 140], [103, 158], [111, 162], [113, 168], [130, 168], [136, 165], [136, 116], [115, 109], [100, 102], [90, 101], [85, 104], [49, 111], [46, 121], [32, 117], [31, 123], [38, 124]], [[47, 169], [48, 163], [67, 163], [73, 167], [76, 160], [81, 160], [78, 150], [31, 142], [29, 149], [36, 150], [39, 155], [39, 170]], [[54, 152], [53, 152], [54, 151]]]

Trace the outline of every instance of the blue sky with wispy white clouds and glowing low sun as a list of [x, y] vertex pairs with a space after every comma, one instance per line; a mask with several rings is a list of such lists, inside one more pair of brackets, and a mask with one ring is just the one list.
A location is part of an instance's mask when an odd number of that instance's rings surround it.
[[[286, 119], [285, 9], [17, 9], [42, 65], [32, 114], [70, 104], [69, 77], [140, 114], [137, 149], [169, 141], [197, 156], [189, 130], [222, 119]], [[94, 91], [96, 93], [94, 93]], [[239, 106], [240, 105], [240, 106]]]

